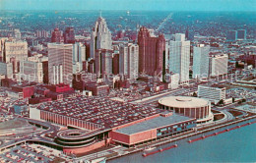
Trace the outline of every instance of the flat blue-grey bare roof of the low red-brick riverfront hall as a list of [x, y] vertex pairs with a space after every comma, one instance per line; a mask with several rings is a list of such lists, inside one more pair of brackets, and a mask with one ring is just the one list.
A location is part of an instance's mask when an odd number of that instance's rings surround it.
[[176, 124], [176, 123], [180, 123], [183, 121], [189, 121], [189, 120], [193, 120], [192, 118], [189, 117], [184, 117], [184, 116], [180, 116], [177, 114], [173, 114], [172, 116], [168, 116], [168, 117], [156, 117], [154, 119], [150, 119], [147, 121], [144, 121], [142, 123], [138, 123], [129, 127], [125, 127], [122, 129], [117, 130], [117, 133], [122, 133], [125, 135], [133, 135], [136, 133], [141, 133], [144, 131], [148, 131], [148, 130], [152, 130], [152, 129], [156, 129], [156, 128], [160, 128], [160, 127], [164, 127], [164, 126], [168, 126], [171, 124]]

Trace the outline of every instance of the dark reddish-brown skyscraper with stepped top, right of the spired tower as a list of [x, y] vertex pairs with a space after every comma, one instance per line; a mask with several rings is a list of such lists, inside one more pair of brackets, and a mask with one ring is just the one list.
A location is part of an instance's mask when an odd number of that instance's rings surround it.
[[141, 27], [138, 34], [139, 73], [149, 76], [161, 75], [162, 54], [165, 50], [165, 39], [150, 35], [149, 29]]

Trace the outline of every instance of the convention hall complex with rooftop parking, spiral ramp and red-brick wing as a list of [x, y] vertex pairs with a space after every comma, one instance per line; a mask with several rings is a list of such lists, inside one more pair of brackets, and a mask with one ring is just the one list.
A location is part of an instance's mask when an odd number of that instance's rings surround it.
[[196, 126], [196, 118], [171, 111], [82, 95], [32, 105], [30, 118], [73, 128], [58, 132], [54, 143], [75, 154], [109, 143], [133, 146]]

